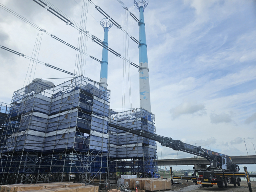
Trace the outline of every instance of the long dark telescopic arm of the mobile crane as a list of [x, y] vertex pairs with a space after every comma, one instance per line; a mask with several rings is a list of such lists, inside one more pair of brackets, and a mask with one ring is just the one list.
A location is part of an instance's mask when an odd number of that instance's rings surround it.
[[180, 140], [173, 140], [171, 137], [169, 138], [169, 137], [164, 137], [164, 136], [160, 136], [157, 134], [152, 134], [149, 132], [145, 132], [144, 130], [138, 131], [138, 130], [134, 130], [132, 128], [118, 126], [118, 125], [112, 124], [112, 123], [110, 123], [109, 126], [114, 127], [119, 130], [123, 130], [125, 132], [129, 132], [132, 134], [136, 134], [138, 136], [142, 136], [142, 137], [160, 142], [162, 146], [172, 148], [173, 150], [183, 151], [183, 152], [190, 153], [190, 154], [193, 154], [196, 156], [204, 157], [210, 162], [214, 161], [216, 159], [216, 156], [224, 156], [226, 158], [230, 158], [230, 156], [204, 149], [201, 146], [193, 146], [190, 144], [183, 143]]

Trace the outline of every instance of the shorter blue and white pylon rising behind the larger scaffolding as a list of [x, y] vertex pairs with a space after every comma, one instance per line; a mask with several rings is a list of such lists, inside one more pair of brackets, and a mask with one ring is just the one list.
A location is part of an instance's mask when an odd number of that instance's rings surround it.
[[[108, 46], [108, 30], [112, 27], [112, 22], [108, 19], [102, 19], [100, 25], [104, 28], [104, 40], [102, 44]], [[100, 61], [100, 90], [106, 90], [108, 88], [108, 50], [102, 48], [102, 58]]]

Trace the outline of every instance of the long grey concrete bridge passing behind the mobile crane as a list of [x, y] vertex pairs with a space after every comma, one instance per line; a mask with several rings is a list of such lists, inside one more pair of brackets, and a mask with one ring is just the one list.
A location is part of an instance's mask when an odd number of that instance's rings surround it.
[[[232, 156], [232, 162], [238, 165], [256, 164], [256, 155]], [[183, 158], [183, 159], [163, 159], [157, 160], [158, 165], [210, 165], [206, 158]]]

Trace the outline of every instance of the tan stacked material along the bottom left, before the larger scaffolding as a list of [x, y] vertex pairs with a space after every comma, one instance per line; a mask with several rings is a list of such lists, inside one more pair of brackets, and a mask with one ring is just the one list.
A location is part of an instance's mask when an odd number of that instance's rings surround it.
[[0, 186], [1, 192], [98, 192], [98, 186], [81, 183], [14, 184]]

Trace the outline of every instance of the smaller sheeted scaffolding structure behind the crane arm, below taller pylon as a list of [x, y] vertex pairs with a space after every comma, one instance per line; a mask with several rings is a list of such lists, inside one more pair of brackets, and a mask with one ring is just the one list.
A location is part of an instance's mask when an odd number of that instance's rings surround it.
[[[156, 133], [154, 114], [142, 108], [110, 110], [112, 124], [134, 130]], [[156, 141], [109, 127], [109, 178], [118, 174], [133, 174], [138, 178], [148, 177], [149, 172], [157, 176], [158, 166]]]

